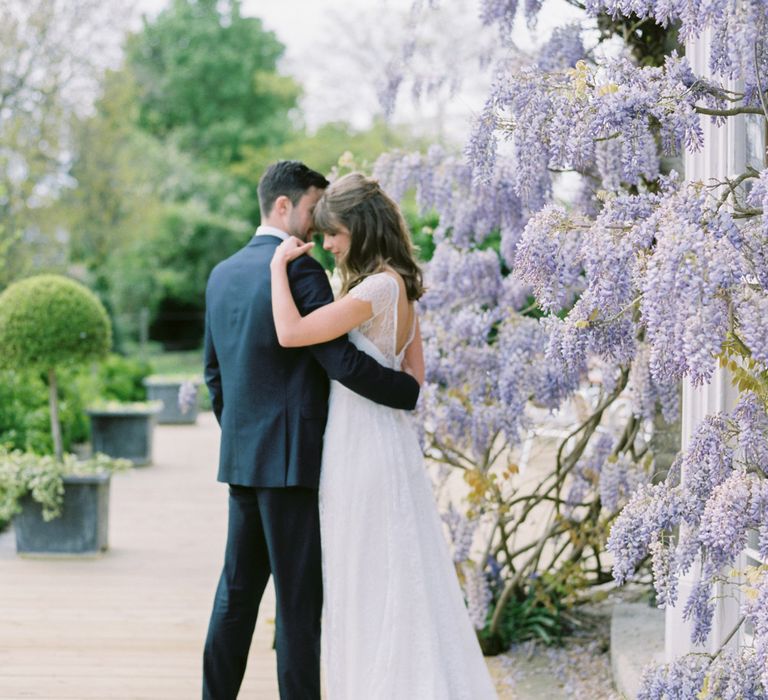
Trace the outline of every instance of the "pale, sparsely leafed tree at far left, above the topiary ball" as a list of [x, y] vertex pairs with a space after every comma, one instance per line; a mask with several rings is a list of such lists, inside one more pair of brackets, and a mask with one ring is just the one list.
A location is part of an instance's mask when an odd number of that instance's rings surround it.
[[0, 287], [66, 263], [46, 206], [63, 183], [70, 115], [122, 15], [98, 0], [0, 4]]

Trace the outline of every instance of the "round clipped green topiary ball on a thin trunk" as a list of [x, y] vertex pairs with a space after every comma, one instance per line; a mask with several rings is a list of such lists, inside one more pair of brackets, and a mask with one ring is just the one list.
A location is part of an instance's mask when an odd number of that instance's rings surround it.
[[89, 362], [111, 345], [104, 306], [79, 282], [37, 275], [0, 294], [0, 363], [9, 369]]

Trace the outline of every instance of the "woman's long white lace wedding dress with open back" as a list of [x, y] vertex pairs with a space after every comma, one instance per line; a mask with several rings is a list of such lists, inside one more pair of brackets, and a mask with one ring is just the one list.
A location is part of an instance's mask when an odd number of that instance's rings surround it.
[[[350, 340], [399, 369], [397, 281], [374, 274], [350, 294], [374, 313]], [[320, 477], [328, 700], [497, 697], [413, 420], [331, 385]]]

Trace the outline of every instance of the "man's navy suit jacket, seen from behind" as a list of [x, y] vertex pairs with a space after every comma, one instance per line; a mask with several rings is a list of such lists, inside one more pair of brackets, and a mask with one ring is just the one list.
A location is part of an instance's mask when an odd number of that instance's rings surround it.
[[[329, 377], [393, 408], [414, 408], [419, 387], [346, 336], [306, 348], [280, 346], [269, 269], [279, 244], [276, 236], [254, 236], [208, 280], [205, 382], [221, 425], [218, 480], [317, 488]], [[302, 315], [333, 301], [325, 271], [308, 255], [288, 265], [288, 278]]]

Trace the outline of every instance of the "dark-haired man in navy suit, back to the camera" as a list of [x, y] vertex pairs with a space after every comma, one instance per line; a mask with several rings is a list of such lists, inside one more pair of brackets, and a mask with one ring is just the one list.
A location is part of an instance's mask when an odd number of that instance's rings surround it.
[[[320, 698], [322, 575], [317, 489], [328, 377], [394, 408], [412, 409], [413, 377], [385, 369], [345, 337], [282, 348], [272, 320], [269, 263], [287, 236], [309, 238], [328, 186], [297, 161], [259, 182], [262, 225], [219, 263], [206, 290], [205, 381], [221, 425], [218, 480], [229, 484], [229, 526], [203, 657], [203, 697], [237, 697], [270, 574], [277, 597], [282, 700]], [[305, 255], [288, 276], [302, 314], [333, 301], [320, 264]]]

